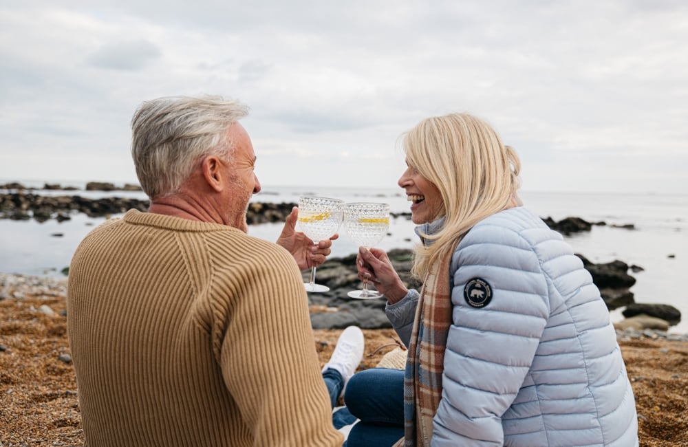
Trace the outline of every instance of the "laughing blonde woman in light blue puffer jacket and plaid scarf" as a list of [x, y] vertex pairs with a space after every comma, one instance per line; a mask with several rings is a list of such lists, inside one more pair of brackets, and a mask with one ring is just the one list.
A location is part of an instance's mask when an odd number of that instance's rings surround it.
[[382, 250], [358, 254], [409, 351], [406, 371], [350, 380], [361, 422], [347, 447], [637, 446], [608, 311], [561, 235], [522, 206], [515, 151], [464, 113], [422, 120], [403, 142], [424, 285], [407, 290]]

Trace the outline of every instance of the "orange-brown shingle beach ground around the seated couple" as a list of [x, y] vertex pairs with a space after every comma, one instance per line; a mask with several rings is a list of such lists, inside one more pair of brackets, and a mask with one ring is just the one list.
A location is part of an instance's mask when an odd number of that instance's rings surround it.
[[[12, 284], [6, 278], [0, 281], [0, 447], [82, 446], [64, 283]], [[395, 334], [363, 332], [361, 368], [374, 367], [394, 349]], [[323, 364], [340, 333], [314, 331]], [[688, 446], [688, 342], [625, 336], [619, 345], [636, 395], [640, 445]]]

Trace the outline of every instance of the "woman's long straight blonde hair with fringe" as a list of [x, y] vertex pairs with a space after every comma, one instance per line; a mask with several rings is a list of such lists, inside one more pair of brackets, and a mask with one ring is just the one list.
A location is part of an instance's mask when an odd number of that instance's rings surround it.
[[402, 135], [407, 163], [440, 190], [444, 225], [418, 246], [411, 273], [424, 279], [477, 222], [506, 208], [521, 162], [486, 122], [467, 113], [426, 118]]

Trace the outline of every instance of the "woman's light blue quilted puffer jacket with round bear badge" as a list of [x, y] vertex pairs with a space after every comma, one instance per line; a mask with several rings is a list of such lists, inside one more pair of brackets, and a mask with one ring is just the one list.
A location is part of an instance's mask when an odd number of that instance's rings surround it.
[[[638, 446], [607, 308], [559, 233], [527, 208], [504, 210], [464, 237], [449, 274], [453, 325], [432, 446]], [[475, 279], [488, 285], [486, 304]], [[417, 303], [409, 291], [387, 307], [407, 345]]]

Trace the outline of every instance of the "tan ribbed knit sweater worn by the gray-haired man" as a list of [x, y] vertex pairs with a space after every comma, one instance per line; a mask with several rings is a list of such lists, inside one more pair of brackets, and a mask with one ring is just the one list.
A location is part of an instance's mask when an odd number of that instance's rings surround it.
[[89, 446], [342, 444], [301, 274], [274, 243], [129, 210], [78, 246], [67, 334]]

